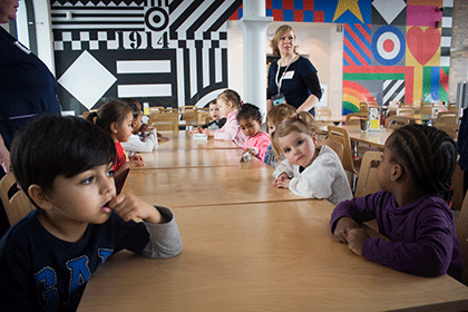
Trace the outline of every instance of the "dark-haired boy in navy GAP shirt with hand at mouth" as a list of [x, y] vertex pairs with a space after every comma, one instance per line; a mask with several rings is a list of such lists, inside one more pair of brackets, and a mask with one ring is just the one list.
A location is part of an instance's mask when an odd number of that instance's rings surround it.
[[116, 194], [116, 147], [96, 125], [40, 117], [14, 138], [11, 160], [37, 209], [0, 241], [2, 311], [76, 311], [90, 275], [113, 254], [181, 252], [170, 209]]

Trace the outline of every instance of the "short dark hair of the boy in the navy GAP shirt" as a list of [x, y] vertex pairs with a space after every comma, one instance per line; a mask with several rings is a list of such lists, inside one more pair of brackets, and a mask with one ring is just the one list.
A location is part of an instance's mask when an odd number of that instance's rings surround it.
[[57, 176], [70, 178], [92, 167], [115, 163], [113, 138], [79, 117], [42, 116], [11, 144], [11, 168], [28, 194], [32, 184], [50, 189]]

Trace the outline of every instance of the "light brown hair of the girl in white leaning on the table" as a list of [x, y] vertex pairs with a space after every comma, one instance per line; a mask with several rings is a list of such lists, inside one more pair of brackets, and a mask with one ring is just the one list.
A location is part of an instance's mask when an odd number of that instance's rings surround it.
[[318, 126], [315, 119], [309, 111], [299, 111], [293, 118], [289, 118], [281, 123], [276, 130], [272, 134], [272, 147], [276, 159], [281, 159], [281, 147], [279, 143], [280, 137], [284, 137], [292, 131], [298, 131], [313, 136], [316, 133]]

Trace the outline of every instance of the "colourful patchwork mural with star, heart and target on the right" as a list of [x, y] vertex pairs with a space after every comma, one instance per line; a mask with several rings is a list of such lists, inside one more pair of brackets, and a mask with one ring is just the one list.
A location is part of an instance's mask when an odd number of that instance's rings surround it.
[[454, 0], [267, 0], [266, 16], [343, 25], [348, 114], [360, 101], [448, 99], [452, 8]]

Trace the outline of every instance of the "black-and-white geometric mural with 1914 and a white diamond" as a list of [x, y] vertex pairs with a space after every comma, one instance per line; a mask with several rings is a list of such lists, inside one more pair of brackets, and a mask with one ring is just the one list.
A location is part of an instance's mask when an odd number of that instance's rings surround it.
[[52, 0], [59, 98], [204, 106], [227, 87], [226, 21], [242, 0]]

